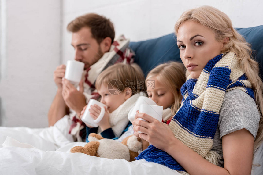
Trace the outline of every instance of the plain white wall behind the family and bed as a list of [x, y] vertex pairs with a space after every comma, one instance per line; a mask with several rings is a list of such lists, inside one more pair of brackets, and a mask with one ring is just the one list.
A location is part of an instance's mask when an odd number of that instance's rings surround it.
[[76, 16], [89, 12], [104, 15], [113, 21], [116, 35], [123, 33], [131, 41], [172, 33], [183, 11], [201, 5], [225, 12], [234, 27], [263, 24], [260, 0], [0, 1], [6, 3], [6, 47], [1, 50], [6, 56], [0, 58], [4, 126], [48, 125], [47, 113], [56, 91], [53, 72], [73, 59], [66, 26]]

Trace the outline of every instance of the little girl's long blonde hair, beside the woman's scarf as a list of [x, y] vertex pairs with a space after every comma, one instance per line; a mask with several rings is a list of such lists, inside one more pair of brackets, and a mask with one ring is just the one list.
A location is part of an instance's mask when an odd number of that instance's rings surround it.
[[186, 80], [185, 67], [182, 63], [175, 61], [163, 63], [148, 73], [146, 82], [152, 78], [156, 78], [168, 91], [172, 92], [174, 104], [172, 104], [171, 111], [174, 115], [180, 107], [180, 100], [182, 100], [180, 88]]

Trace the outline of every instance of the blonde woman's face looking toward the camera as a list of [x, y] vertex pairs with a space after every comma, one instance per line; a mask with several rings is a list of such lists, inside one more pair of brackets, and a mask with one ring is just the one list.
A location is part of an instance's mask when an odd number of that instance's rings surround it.
[[180, 57], [192, 78], [198, 78], [207, 62], [220, 54], [224, 41], [217, 41], [212, 30], [195, 21], [180, 25], [177, 45]]

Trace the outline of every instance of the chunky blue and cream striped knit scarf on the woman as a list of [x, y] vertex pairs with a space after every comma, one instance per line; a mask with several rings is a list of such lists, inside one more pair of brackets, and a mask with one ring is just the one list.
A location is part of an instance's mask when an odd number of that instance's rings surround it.
[[[218, 164], [219, 155], [210, 150], [224, 95], [232, 89], [240, 89], [254, 98], [251, 88], [235, 53], [220, 54], [206, 64], [198, 79], [187, 78], [181, 88], [182, 105], [169, 127], [177, 139], [209, 162]], [[187, 174], [172, 156], [153, 145], [141, 152], [139, 159]]]

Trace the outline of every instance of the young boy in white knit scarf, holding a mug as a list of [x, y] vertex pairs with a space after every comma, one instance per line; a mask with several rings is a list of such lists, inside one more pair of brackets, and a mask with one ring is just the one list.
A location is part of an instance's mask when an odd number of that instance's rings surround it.
[[[108, 67], [99, 74], [95, 87], [101, 95], [103, 104], [107, 106], [105, 114], [97, 128], [86, 126], [86, 141], [90, 133], [100, 133], [104, 138], [119, 137], [123, 130], [128, 127], [128, 112], [140, 96], [139, 92], [145, 91], [145, 86], [129, 84], [129, 81], [140, 80], [144, 83], [142, 70], [138, 65], [118, 63]], [[144, 84], [143, 84], [144, 85]], [[82, 117], [87, 105], [81, 111]], [[91, 117], [95, 120], [101, 108], [98, 105], [91, 105], [89, 109]]]

